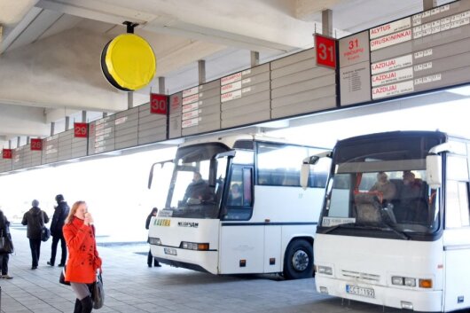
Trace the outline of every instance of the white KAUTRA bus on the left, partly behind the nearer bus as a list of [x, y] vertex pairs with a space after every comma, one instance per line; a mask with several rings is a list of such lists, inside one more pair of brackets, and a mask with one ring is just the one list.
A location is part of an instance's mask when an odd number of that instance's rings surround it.
[[[171, 160], [171, 182], [160, 186], [168, 189], [166, 205], [150, 225], [153, 256], [212, 274], [312, 277], [327, 167], [323, 175], [312, 172], [302, 190], [299, 164], [309, 153], [324, 150], [248, 135], [179, 146]], [[149, 188], [161, 164], [153, 164]], [[204, 194], [191, 194], [196, 176], [203, 180], [196, 189]]]

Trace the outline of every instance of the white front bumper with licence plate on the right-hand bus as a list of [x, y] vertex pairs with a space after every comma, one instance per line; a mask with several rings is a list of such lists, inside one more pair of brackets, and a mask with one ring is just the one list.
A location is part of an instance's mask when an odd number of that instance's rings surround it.
[[[376, 286], [369, 284], [345, 281], [336, 278], [325, 278], [318, 275], [315, 278], [317, 292], [329, 294], [354, 301], [368, 302], [398, 309], [412, 309], [414, 311], [441, 312], [443, 292], [439, 290], [413, 290], [394, 288], [390, 286]], [[355, 286], [359, 288], [351, 288]], [[354, 289], [367, 295], [357, 295], [347, 292]], [[373, 296], [372, 296], [373, 293]]]

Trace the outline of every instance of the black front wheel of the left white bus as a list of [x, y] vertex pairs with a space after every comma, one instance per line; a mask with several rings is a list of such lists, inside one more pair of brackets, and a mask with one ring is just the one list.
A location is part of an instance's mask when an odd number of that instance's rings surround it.
[[311, 278], [313, 272], [313, 247], [307, 240], [294, 240], [287, 246], [284, 258], [286, 279]]

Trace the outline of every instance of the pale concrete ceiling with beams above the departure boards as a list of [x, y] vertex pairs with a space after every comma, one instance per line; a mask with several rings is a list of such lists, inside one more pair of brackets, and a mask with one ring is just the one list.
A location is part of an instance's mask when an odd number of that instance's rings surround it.
[[[450, 1], [437, 1], [437, 4]], [[100, 54], [122, 22], [157, 57], [153, 82], [133, 95], [134, 106], [159, 91], [198, 84], [200, 59], [206, 80], [312, 46], [321, 12], [333, 11], [333, 35], [342, 37], [423, 9], [423, 0], [2, 0], [0, 2], [0, 144], [25, 145], [26, 137], [65, 129], [65, 117], [93, 121], [128, 108], [126, 92], [101, 73]], [[20, 140], [18, 140], [20, 138]]]

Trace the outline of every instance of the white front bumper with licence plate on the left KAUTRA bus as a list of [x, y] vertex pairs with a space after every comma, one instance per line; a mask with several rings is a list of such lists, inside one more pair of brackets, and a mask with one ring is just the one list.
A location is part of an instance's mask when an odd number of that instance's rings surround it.
[[153, 257], [164, 264], [218, 274], [217, 251], [197, 251], [157, 245], [150, 245], [150, 250]]

